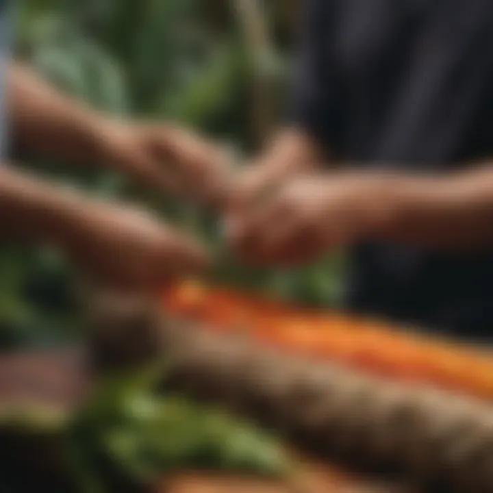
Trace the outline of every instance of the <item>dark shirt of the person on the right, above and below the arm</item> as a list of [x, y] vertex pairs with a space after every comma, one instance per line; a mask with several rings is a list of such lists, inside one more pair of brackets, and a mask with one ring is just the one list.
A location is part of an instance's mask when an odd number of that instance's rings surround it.
[[[294, 115], [332, 154], [424, 171], [493, 157], [492, 0], [306, 3]], [[493, 336], [493, 252], [358, 245], [347, 302]]]

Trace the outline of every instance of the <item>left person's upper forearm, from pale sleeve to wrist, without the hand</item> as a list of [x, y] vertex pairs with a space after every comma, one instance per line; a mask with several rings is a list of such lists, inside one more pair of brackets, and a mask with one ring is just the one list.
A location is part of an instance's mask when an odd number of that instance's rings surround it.
[[23, 149], [73, 162], [99, 160], [101, 116], [21, 64], [9, 68], [8, 104], [12, 138]]

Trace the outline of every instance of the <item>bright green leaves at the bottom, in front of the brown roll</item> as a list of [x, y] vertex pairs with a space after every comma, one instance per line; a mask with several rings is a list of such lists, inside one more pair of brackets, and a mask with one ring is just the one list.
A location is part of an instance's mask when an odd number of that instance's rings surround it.
[[158, 396], [162, 375], [158, 364], [108, 379], [71, 422], [69, 457], [84, 493], [105, 491], [104, 466], [140, 484], [169, 470], [286, 475], [290, 463], [276, 440], [223, 412]]

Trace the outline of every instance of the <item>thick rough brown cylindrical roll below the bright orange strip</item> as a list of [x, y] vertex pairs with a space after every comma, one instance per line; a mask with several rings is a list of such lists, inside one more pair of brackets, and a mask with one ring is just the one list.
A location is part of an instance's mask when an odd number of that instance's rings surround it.
[[[132, 366], [165, 356], [168, 391], [255, 418], [325, 457], [401, 472], [420, 490], [493, 491], [493, 412], [482, 401], [281, 354], [145, 303], [109, 301], [92, 325], [99, 362]], [[132, 331], [147, 340], [136, 352]]]

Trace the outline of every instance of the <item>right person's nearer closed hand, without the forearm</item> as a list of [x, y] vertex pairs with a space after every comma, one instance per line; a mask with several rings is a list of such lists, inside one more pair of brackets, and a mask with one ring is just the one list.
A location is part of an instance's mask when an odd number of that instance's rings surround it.
[[362, 240], [384, 219], [377, 179], [297, 177], [230, 218], [229, 241], [244, 260], [292, 266]]

